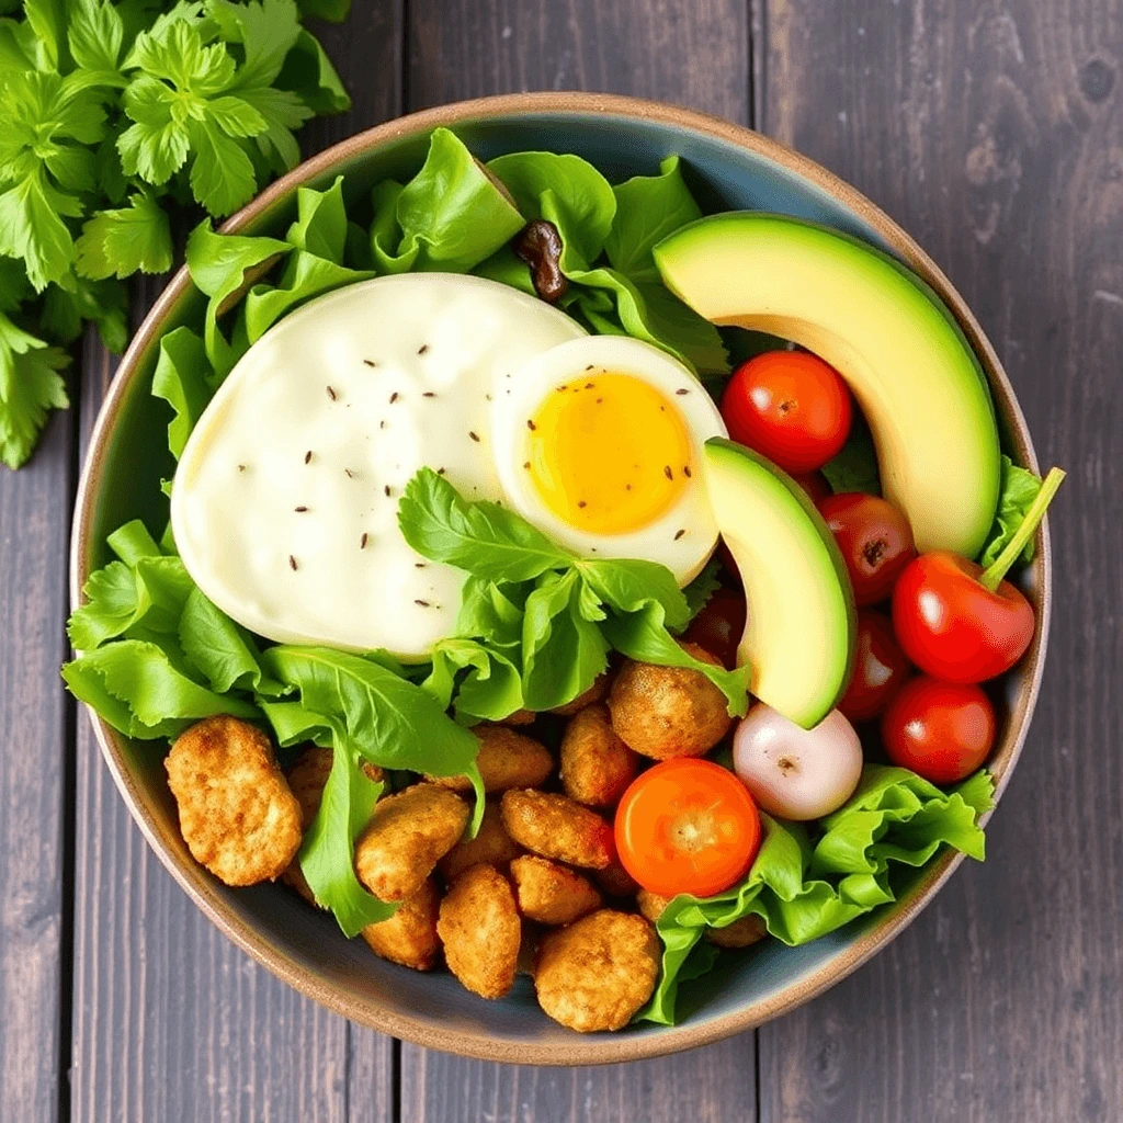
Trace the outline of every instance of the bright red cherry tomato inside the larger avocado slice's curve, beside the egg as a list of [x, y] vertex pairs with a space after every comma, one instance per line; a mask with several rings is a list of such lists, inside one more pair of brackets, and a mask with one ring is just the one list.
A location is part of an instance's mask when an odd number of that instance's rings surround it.
[[833, 367], [805, 351], [768, 351], [742, 363], [721, 396], [733, 440], [785, 472], [814, 472], [850, 432], [850, 391]]

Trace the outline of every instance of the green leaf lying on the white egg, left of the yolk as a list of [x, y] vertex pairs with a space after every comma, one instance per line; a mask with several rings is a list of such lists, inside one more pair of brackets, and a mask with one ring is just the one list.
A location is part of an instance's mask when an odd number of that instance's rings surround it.
[[495, 503], [466, 502], [432, 468], [421, 468], [405, 485], [398, 526], [422, 557], [486, 581], [530, 581], [572, 560], [572, 555], [513, 511]]

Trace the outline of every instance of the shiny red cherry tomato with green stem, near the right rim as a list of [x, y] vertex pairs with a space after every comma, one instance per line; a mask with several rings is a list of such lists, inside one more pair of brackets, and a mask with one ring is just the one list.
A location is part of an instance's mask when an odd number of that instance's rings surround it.
[[982, 683], [1008, 670], [1033, 639], [1033, 609], [1008, 581], [979, 584], [983, 567], [938, 550], [911, 562], [893, 590], [893, 628], [921, 670]]

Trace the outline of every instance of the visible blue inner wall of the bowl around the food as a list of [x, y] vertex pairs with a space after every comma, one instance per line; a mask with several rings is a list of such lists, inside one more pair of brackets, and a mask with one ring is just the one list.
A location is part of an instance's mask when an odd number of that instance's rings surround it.
[[[477, 119], [458, 125], [457, 133], [484, 159], [522, 149], [576, 153], [613, 182], [636, 174], [655, 174], [660, 159], [677, 153], [706, 211], [779, 211], [813, 219], [887, 248], [853, 211], [814, 184], [761, 155], [679, 126], [617, 116], [544, 111]], [[358, 203], [367, 199], [376, 181], [411, 175], [420, 166], [426, 147], [423, 137], [392, 141], [377, 152], [343, 161], [330, 175], [323, 175], [312, 185], [328, 185], [335, 175], [344, 174], [348, 194]], [[246, 232], [281, 234], [294, 212], [294, 198], [289, 195], [255, 219]], [[179, 302], [167, 327], [179, 322], [198, 326], [201, 316], [202, 301], [193, 294]], [[155, 358], [154, 347], [140, 356], [137, 377], [121, 403], [119, 421], [108, 442], [104, 482], [97, 496], [91, 544], [93, 565], [107, 560], [104, 536], [121, 522], [141, 517], [158, 535], [167, 518], [158, 483], [172, 474], [174, 465], [164, 437], [167, 409], [149, 395]], [[127, 769], [152, 793], [157, 814], [167, 816], [173, 828], [170, 833], [177, 840], [175, 809], [167, 792], [159, 747], [126, 741], [122, 751]], [[173, 849], [181, 877], [202, 885], [207, 875], [194, 866], [182, 842], [177, 841]], [[682, 987], [684, 1020], [699, 1028], [798, 987], [809, 976], [829, 968], [864, 932], [906, 907], [915, 884], [916, 875], [911, 875], [903, 880], [896, 904], [805, 947], [785, 948], [769, 940], [746, 952], [724, 955], [713, 974]], [[346, 940], [330, 917], [305, 906], [286, 888], [230, 889], [217, 885], [217, 892], [238, 921], [261, 933], [298, 969], [317, 976], [337, 994], [360, 999], [372, 1010], [385, 1010], [413, 1023], [428, 1023], [435, 1031], [463, 1032], [496, 1044], [535, 1042], [572, 1047], [576, 1040], [575, 1034], [541, 1013], [526, 977], [519, 978], [504, 1001], [485, 1002], [446, 973], [420, 975], [376, 959], [362, 940]], [[668, 1030], [642, 1024], [623, 1032], [650, 1037]], [[483, 1047], [477, 1041], [476, 1049]]]

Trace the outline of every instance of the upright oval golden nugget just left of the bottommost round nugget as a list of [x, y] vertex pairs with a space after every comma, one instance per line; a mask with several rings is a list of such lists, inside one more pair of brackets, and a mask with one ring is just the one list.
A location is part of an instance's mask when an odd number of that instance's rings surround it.
[[522, 921], [511, 883], [492, 866], [466, 869], [440, 903], [448, 969], [482, 998], [502, 998], [519, 965]]

